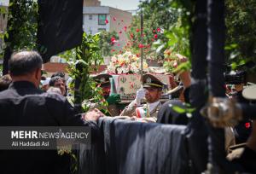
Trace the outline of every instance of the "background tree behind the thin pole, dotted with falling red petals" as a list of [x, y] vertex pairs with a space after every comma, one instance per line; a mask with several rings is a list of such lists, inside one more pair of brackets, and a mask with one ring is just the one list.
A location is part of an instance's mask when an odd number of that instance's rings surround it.
[[[133, 16], [128, 32], [130, 42], [125, 49], [130, 49], [133, 53], [140, 55], [140, 49], [143, 47], [145, 54], [152, 55], [151, 59], [158, 57], [152, 50], [153, 43], [157, 40], [166, 40], [163, 32], [177, 21], [177, 11], [170, 9], [169, 6], [168, 0], [140, 3], [141, 10]], [[143, 34], [141, 33], [141, 13], [143, 13]], [[143, 45], [141, 44], [142, 37]], [[163, 51], [158, 55], [163, 55]]]

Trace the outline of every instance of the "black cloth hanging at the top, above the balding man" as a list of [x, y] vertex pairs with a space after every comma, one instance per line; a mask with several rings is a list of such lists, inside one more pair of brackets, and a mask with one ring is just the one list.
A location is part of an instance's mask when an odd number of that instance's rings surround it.
[[83, 0], [38, 0], [38, 50], [44, 62], [82, 42]]

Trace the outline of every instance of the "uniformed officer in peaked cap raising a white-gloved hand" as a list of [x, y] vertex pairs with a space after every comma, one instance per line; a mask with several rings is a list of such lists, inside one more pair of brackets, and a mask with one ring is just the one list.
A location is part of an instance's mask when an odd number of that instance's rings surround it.
[[[158, 78], [152, 74], [143, 75], [143, 88], [137, 91], [137, 96], [120, 113], [120, 116], [136, 116], [137, 118], [151, 118], [148, 122], [155, 122], [157, 113], [160, 110], [160, 96], [165, 86]], [[146, 104], [141, 105], [142, 99], [146, 99]]]

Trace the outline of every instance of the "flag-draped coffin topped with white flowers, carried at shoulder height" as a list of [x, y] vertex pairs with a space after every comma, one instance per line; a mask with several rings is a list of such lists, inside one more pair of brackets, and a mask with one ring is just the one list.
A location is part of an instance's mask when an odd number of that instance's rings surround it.
[[[130, 51], [124, 54], [113, 55], [108, 66], [108, 73], [112, 74], [110, 78], [111, 91], [110, 93], [120, 94], [122, 102], [131, 102], [136, 97], [136, 92], [142, 86], [140, 74], [141, 61], [140, 57], [133, 55]], [[162, 98], [169, 98], [165, 93], [172, 89], [172, 74], [164, 74], [165, 71], [157, 73], [154, 67], [148, 67], [146, 62], [143, 62], [143, 73], [152, 73], [161, 82], [166, 84], [164, 95]], [[158, 71], [159, 72], [159, 71]]]

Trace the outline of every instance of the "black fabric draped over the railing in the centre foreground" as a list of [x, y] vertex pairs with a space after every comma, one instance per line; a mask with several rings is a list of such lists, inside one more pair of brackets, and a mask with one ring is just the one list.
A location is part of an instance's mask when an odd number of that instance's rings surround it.
[[[114, 118], [100, 119], [99, 125], [103, 132], [104, 149], [102, 146], [81, 149], [80, 157], [83, 159], [80, 158], [80, 161], [83, 162], [80, 163], [79, 173], [189, 172], [187, 143], [183, 135], [185, 126], [145, 124]], [[84, 158], [89, 156], [93, 159]]]

